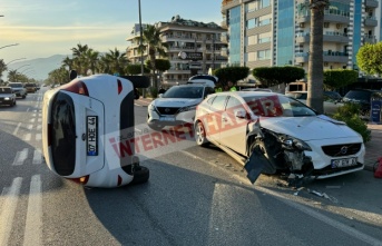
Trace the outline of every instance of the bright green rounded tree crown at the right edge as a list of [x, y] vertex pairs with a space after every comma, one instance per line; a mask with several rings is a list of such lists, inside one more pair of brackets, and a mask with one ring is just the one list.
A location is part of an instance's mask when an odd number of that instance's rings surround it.
[[356, 63], [369, 75], [382, 75], [382, 42], [362, 46], [356, 53]]

